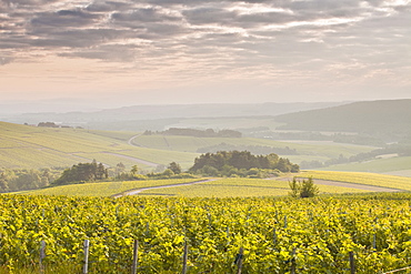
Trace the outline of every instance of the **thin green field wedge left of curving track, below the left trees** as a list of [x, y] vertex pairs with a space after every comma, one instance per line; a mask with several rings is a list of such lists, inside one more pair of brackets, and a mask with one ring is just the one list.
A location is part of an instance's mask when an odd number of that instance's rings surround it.
[[129, 190], [143, 189], [158, 185], [169, 185], [179, 183], [196, 182], [199, 179], [173, 179], [173, 180], [148, 180], [148, 181], [127, 181], [127, 182], [102, 182], [70, 184], [56, 187], [48, 187], [34, 191], [24, 191], [16, 194], [29, 195], [64, 195], [64, 196], [112, 196]]

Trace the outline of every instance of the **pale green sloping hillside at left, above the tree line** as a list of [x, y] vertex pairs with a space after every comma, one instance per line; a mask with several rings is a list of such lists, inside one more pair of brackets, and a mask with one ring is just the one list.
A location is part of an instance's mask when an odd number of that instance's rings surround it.
[[198, 153], [170, 152], [128, 144], [132, 132], [49, 129], [0, 122], [0, 168], [40, 169], [70, 166], [96, 159], [108, 166], [122, 162], [154, 169], [179, 162], [190, 166]]

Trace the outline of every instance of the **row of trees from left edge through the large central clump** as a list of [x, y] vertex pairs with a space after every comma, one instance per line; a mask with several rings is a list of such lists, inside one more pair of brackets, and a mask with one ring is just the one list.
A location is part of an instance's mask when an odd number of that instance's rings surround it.
[[149, 179], [187, 179], [196, 176], [247, 176], [267, 177], [280, 172], [298, 172], [298, 164], [274, 153], [253, 155], [249, 151], [219, 151], [201, 154], [194, 164], [183, 172], [180, 164], [171, 162], [162, 171], [144, 172], [137, 165], [130, 171], [118, 163], [113, 169], [106, 168], [93, 160], [91, 163], [78, 163], [61, 172], [43, 169], [34, 170], [0, 170], [0, 192], [34, 190], [73, 183], [100, 181], [136, 181]]

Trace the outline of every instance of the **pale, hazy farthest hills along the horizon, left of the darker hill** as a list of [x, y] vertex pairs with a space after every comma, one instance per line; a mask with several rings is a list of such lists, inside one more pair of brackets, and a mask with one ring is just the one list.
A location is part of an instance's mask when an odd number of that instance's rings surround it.
[[21, 124], [58, 122], [99, 130], [164, 130], [169, 124], [190, 118], [273, 116], [344, 103], [347, 102], [132, 105], [93, 112], [10, 114], [1, 120]]

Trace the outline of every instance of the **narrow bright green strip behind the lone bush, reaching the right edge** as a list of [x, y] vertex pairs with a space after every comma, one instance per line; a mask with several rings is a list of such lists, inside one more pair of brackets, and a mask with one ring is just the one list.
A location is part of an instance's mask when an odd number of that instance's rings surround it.
[[411, 191], [411, 177], [384, 175], [365, 172], [334, 172], [334, 171], [308, 171], [300, 173], [299, 177], [310, 177], [348, 182], [357, 184], [367, 184], [382, 187], [391, 187], [404, 191]]

